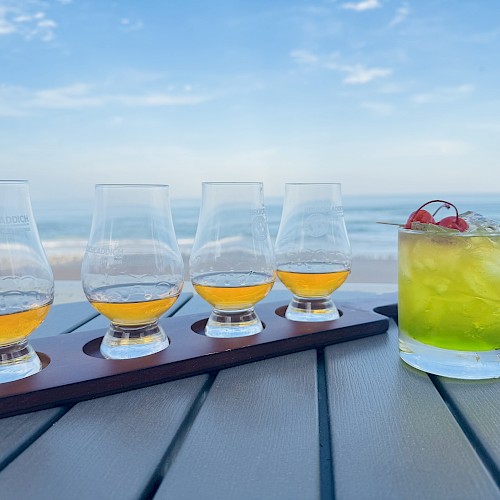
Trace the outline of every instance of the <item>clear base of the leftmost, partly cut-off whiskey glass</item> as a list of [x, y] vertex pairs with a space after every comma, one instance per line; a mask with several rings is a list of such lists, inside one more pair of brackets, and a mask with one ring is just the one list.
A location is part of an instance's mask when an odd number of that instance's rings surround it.
[[40, 358], [27, 340], [0, 346], [0, 383], [29, 377], [41, 369]]

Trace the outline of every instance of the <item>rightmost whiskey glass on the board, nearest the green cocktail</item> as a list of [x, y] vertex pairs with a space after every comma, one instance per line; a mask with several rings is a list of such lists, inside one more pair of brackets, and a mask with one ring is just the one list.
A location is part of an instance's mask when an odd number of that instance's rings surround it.
[[292, 292], [285, 317], [339, 317], [332, 293], [351, 270], [351, 246], [338, 183], [287, 183], [275, 242], [278, 278]]

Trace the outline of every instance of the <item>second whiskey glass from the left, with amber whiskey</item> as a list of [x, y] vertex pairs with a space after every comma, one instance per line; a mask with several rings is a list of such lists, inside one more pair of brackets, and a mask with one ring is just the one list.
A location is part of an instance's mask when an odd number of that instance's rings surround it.
[[111, 322], [100, 346], [105, 358], [137, 358], [168, 347], [158, 320], [177, 300], [183, 274], [169, 187], [97, 184], [82, 285]]

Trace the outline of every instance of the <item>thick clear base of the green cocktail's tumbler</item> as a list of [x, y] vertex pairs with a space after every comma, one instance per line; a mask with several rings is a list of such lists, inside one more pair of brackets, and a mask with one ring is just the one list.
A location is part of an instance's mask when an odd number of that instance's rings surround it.
[[500, 377], [500, 350], [454, 351], [423, 344], [399, 332], [399, 355], [409, 365], [434, 375], [481, 380]]

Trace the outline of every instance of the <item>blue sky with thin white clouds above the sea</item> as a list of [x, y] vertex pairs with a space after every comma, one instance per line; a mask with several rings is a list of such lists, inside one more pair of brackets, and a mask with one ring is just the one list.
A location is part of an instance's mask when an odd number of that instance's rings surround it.
[[0, 0], [0, 178], [500, 191], [498, 0]]

